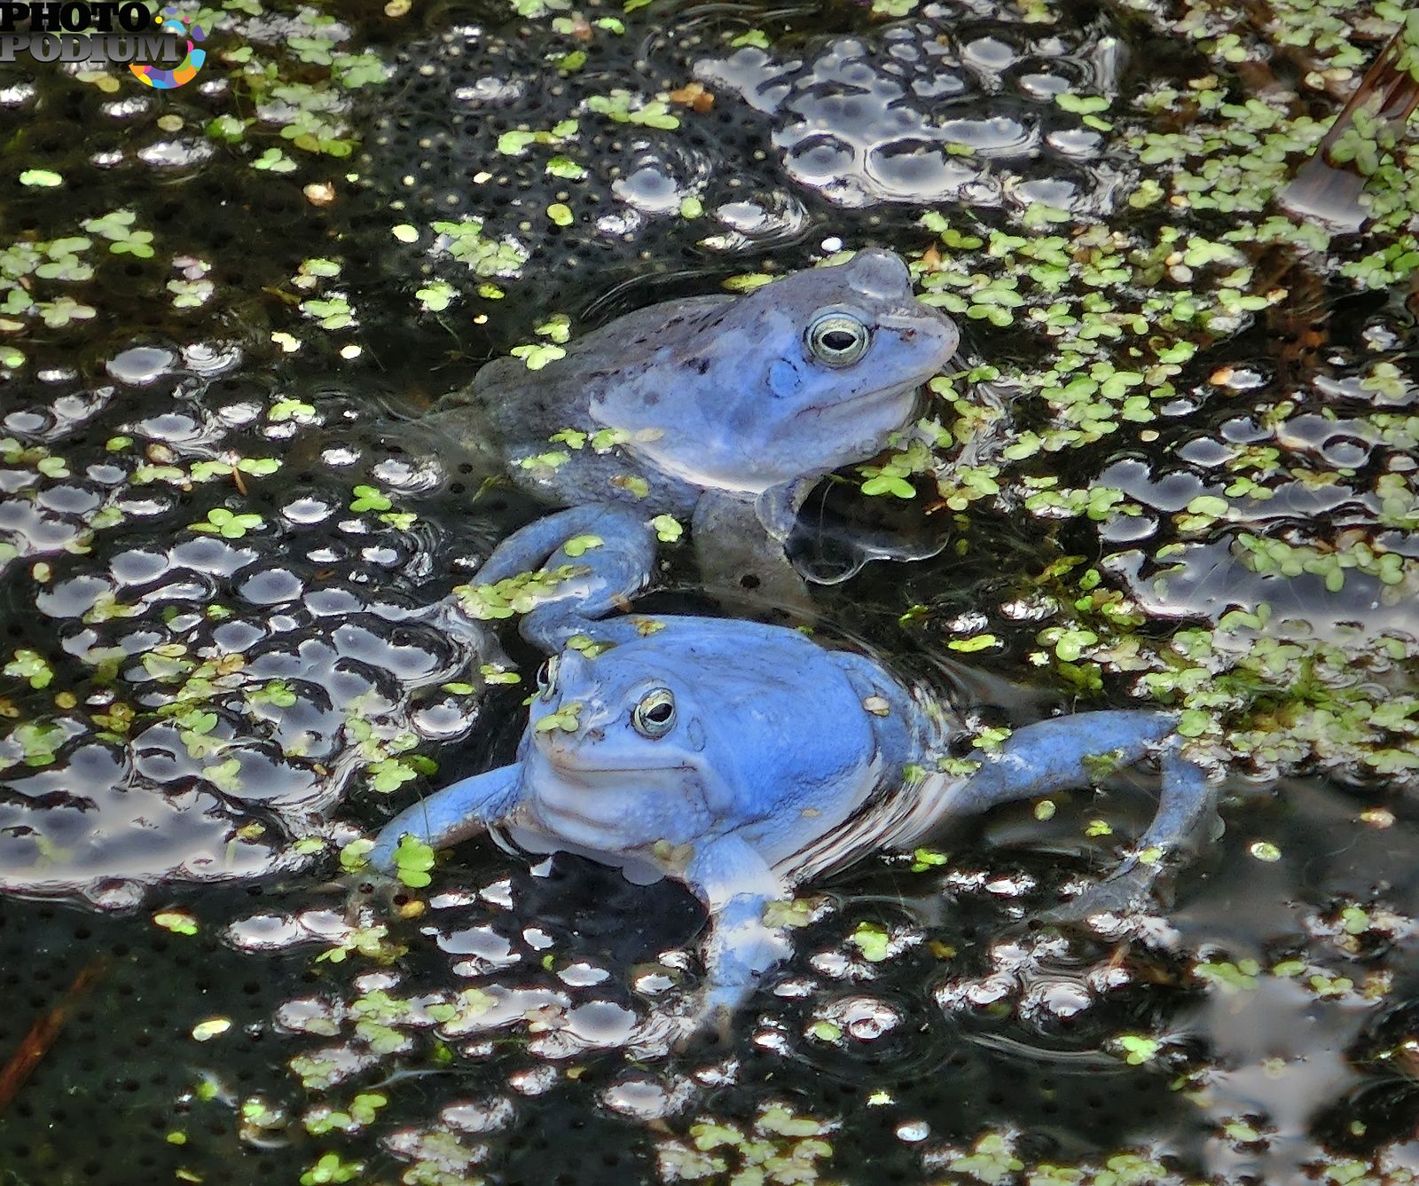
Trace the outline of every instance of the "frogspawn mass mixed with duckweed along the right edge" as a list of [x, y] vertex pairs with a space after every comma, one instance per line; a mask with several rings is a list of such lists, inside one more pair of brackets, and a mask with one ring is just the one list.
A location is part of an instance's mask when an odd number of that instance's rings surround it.
[[[1315, 278], [1297, 267], [1288, 282]], [[1101, 523], [1114, 550], [1100, 570], [1149, 617], [1215, 626], [1206, 657], [1193, 654], [1209, 685], [1250, 668], [1288, 687], [1305, 655], [1325, 695], [1365, 705], [1341, 726], [1331, 722], [1348, 708], [1298, 706], [1286, 729], [1237, 729], [1235, 769], [1260, 779], [1317, 762], [1391, 790], [1415, 779], [1413, 726], [1402, 708], [1386, 726], [1369, 706], [1402, 706], [1413, 691], [1401, 655], [1412, 654], [1419, 594], [1415, 387], [1396, 353], [1413, 315], [1351, 298], [1324, 346], [1311, 316], [1304, 299], [1270, 311], [1229, 346], [1232, 360], [1195, 377], [1158, 453], [1112, 451], [1081, 484], [1122, 495]], [[1259, 606], [1264, 619], [1236, 620]], [[1186, 648], [1185, 636], [1172, 647]]]

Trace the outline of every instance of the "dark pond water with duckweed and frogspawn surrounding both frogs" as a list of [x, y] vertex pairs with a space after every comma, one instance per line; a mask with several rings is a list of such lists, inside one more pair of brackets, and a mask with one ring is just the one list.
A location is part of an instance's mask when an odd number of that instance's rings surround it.
[[[1419, 1175], [1412, 131], [1286, 206], [1402, 13], [184, 11], [173, 89], [0, 67], [0, 1183]], [[969, 733], [1181, 709], [1225, 833], [1093, 936], [1030, 919], [1147, 776], [870, 858], [684, 1050], [678, 885], [474, 841], [350, 898], [539, 658], [440, 609], [538, 508], [419, 416], [868, 245], [964, 338], [805, 508], [817, 624]]]

